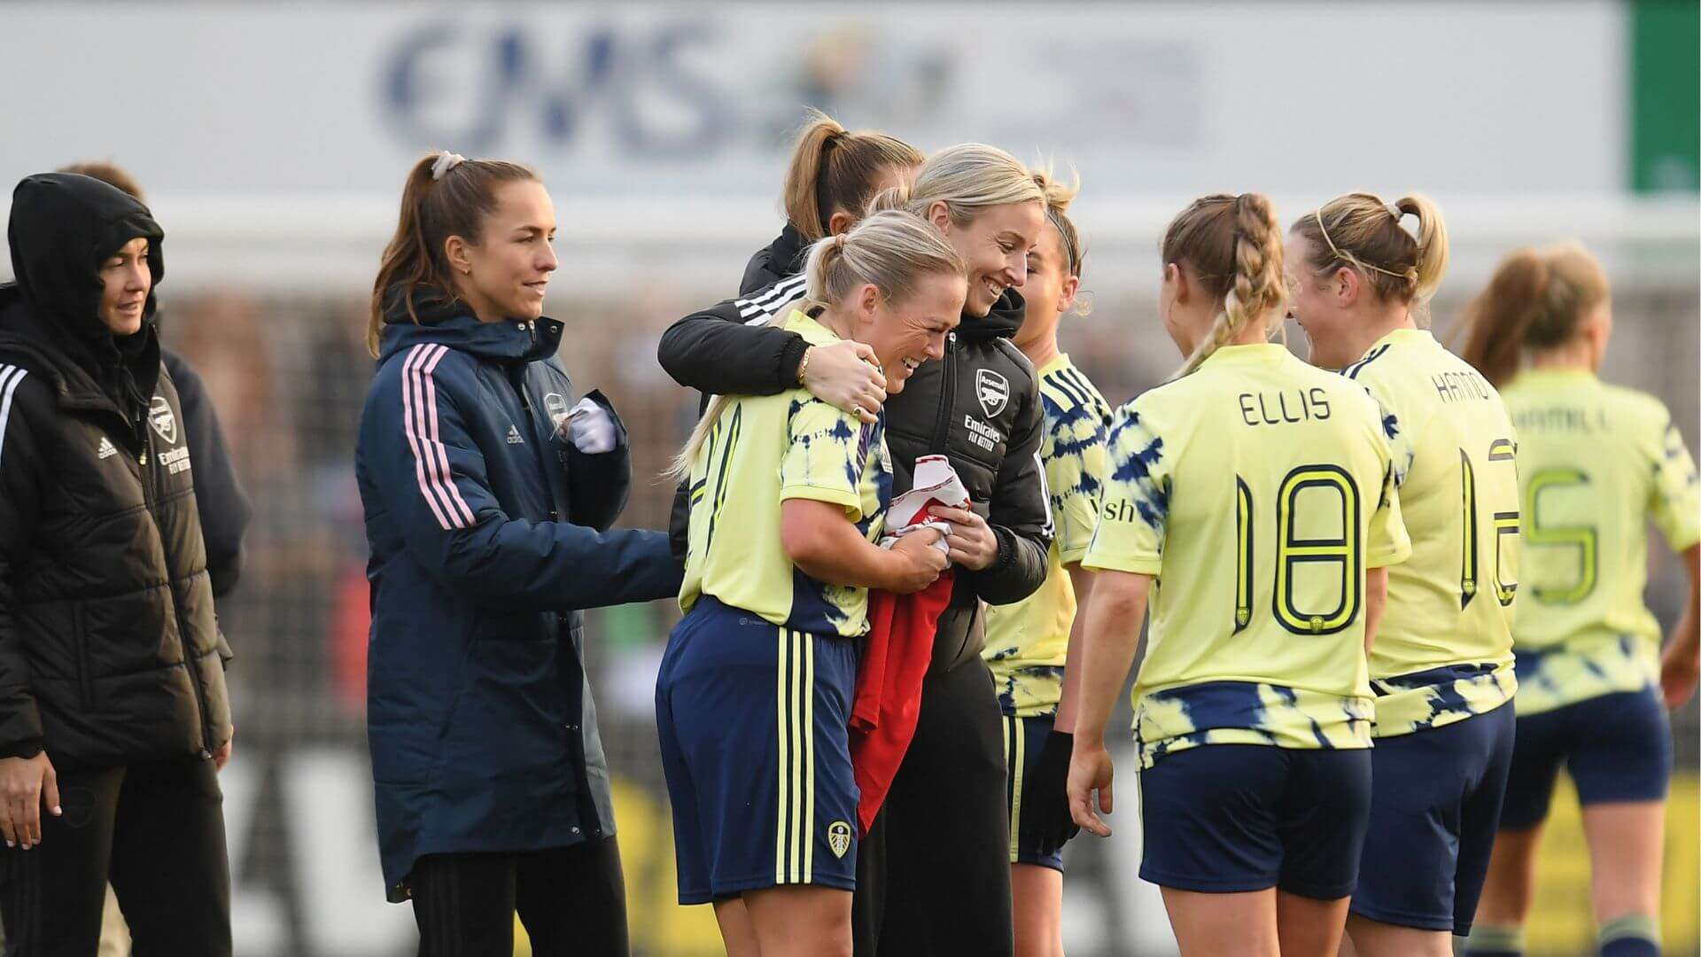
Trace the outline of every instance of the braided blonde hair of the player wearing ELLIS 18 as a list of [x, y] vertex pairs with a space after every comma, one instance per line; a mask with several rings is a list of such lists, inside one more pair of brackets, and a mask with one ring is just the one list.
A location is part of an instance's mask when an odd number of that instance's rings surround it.
[[1259, 192], [1194, 199], [1163, 233], [1163, 262], [1186, 262], [1204, 291], [1223, 300], [1211, 334], [1187, 356], [1177, 378], [1199, 368], [1249, 324], [1266, 324], [1269, 332], [1269, 315], [1279, 313], [1288, 300], [1281, 223]]

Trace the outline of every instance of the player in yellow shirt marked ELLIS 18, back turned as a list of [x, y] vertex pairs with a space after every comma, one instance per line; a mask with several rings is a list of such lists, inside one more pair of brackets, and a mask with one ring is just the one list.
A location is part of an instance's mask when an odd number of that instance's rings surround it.
[[[1371, 644], [1410, 545], [1388, 444], [1354, 383], [1271, 344], [1281, 226], [1257, 194], [1170, 223], [1160, 312], [1189, 363], [1123, 407], [1082, 562], [1068, 797], [1109, 829], [1104, 725], [1150, 594], [1135, 686], [1145, 860], [1182, 954], [1334, 955], [1369, 814]], [[1078, 695], [1078, 702], [1075, 702]]]

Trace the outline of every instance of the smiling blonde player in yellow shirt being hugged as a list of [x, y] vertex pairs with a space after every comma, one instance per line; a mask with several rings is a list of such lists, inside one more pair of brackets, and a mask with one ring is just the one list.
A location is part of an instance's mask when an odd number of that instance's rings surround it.
[[[869, 346], [893, 393], [944, 354], [968, 291], [961, 255], [900, 211], [815, 244], [806, 274], [808, 312], [786, 329]], [[883, 427], [801, 387], [720, 395], [674, 465], [689, 475], [691, 550], [657, 731], [679, 899], [714, 904], [735, 957], [850, 950], [868, 589], [920, 591], [949, 560], [932, 530], [874, 543], [891, 496]]]

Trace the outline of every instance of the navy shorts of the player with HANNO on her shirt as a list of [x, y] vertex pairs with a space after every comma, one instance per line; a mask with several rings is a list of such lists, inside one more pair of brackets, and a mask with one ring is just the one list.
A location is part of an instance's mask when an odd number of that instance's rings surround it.
[[1499, 708], [1371, 748], [1371, 829], [1352, 913], [1466, 935], [1488, 875], [1516, 713]]

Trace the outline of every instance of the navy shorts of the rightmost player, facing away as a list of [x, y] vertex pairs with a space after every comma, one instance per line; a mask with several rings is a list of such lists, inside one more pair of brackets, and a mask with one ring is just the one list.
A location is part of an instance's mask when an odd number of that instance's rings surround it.
[[1672, 727], [1658, 691], [1618, 691], [1519, 717], [1502, 829], [1522, 831], [1546, 821], [1562, 763], [1584, 805], [1665, 800]]

